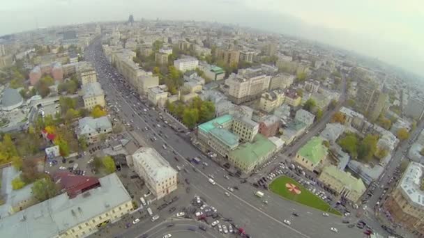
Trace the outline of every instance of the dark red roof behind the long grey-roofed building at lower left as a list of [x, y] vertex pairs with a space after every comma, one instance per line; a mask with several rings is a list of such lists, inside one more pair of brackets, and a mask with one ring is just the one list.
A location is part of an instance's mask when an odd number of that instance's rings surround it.
[[100, 187], [97, 177], [74, 175], [69, 172], [56, 172], [52, 175], [54, 182], [65, 189], [70, 198], [75, 198], [79, 193]]

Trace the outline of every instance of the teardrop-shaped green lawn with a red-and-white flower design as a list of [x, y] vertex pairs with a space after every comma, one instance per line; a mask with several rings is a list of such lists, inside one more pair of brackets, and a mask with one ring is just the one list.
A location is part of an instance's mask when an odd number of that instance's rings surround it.
[[[287, 186], [287, 184], [293, 184], [295, 187], [292, 185]], [[324, 212], [331, 212], [332, 214], [339, 216], [342, 215], [337, 210], [331, 208], [330, 205], [324, 202], [324, 200], [315, 196], [314, 193], [311, 193], [308, 189], [305, 189], [301, 184], [289, 177], [282, 176], [276, 178], [273, 182], [271, 182], [271, 184], [269, 184], [269, 189], [283, 198], [292, 200], [296, 203], [314, 207]], [[297, 191], [297, 193], [295, 191]]]

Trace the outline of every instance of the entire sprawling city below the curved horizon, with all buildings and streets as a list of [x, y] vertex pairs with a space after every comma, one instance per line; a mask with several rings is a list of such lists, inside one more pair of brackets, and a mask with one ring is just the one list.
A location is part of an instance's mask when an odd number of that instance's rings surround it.
[[213, 21], [0, 36], [0, 237], [424, 237], [424, 80]]

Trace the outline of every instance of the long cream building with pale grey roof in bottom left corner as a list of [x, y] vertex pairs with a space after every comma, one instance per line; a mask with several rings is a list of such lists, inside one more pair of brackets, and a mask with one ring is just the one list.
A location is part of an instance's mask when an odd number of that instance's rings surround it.
[[1, 217], [0, 237], [82, 238], [133, 210], [116, 173], [99, 179], [100, 187], [69, 198], [67, 193]]

